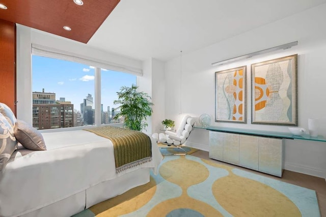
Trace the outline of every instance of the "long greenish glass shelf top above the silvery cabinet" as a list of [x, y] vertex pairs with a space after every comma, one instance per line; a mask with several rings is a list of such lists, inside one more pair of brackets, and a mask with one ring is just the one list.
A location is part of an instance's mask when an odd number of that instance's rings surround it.
[[212, 126], [206, 127], [206, 128], [204, 128], [204, 127], [195, 127], [195, 128], [206, 129], [209, 131], [266, 136], [266, 137], [275, 137], [275, 138], [282, 138], [282, 139], [303, 139], [303, 140], [326, 142], [326, 139], [323, 136], [311, 137], [309, 134], [304, 134], [302, 136], [295, 136], [291, 133], [283, 133], [283, 132], [239, 129], [239, 128], [225, 128], [225, 127], [212, 127]]

